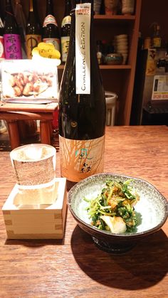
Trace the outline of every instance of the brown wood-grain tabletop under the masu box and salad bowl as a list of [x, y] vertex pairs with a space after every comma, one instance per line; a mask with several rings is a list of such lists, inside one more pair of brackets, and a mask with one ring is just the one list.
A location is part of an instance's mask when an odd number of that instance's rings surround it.
[[[14, 186], [9, 152], [0, 164], [2, 207]], [[168, 127], [107, 127], [105, 171], [146, 179], [168, 198]], [[125, 255], [96, 248], [69, 211], [63, 240], [6, 240], [2, 214], [0, 230], [0, 297], [167, 297], [168, 221]]]

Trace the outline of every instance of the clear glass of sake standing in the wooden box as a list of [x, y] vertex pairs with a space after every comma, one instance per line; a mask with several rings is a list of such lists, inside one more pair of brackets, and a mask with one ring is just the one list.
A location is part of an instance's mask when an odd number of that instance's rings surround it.
[[51, 204], [56, 199], [56, 149], [28, 144], [10, 153], [16, 176], [15, 204]]

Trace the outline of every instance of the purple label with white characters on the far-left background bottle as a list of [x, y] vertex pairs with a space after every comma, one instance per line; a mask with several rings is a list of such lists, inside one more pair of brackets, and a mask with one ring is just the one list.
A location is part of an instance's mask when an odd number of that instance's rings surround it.
[[18, 34], [4, 34], [6, 59], [21, 59], [21, 37]]

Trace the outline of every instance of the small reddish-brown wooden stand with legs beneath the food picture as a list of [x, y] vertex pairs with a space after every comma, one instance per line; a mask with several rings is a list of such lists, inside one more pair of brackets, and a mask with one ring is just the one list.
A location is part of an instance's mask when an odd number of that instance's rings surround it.
[[57, 102], [26, 104], [0, 101], [0, 119], [6, 120], [8, 124], [11, 149], [20, 146], [19, 120], [40, 120], [41, 143], [51, 144], [50, 124], [57, 107]]

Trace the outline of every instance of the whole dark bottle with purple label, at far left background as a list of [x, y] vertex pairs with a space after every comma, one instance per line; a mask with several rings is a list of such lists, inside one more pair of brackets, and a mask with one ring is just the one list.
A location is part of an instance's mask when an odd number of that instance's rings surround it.
[[21, 59], [21, 36], [16, 23], [11, 0], [6, 0], [4, 18], [4, 52], [6, 59]]

